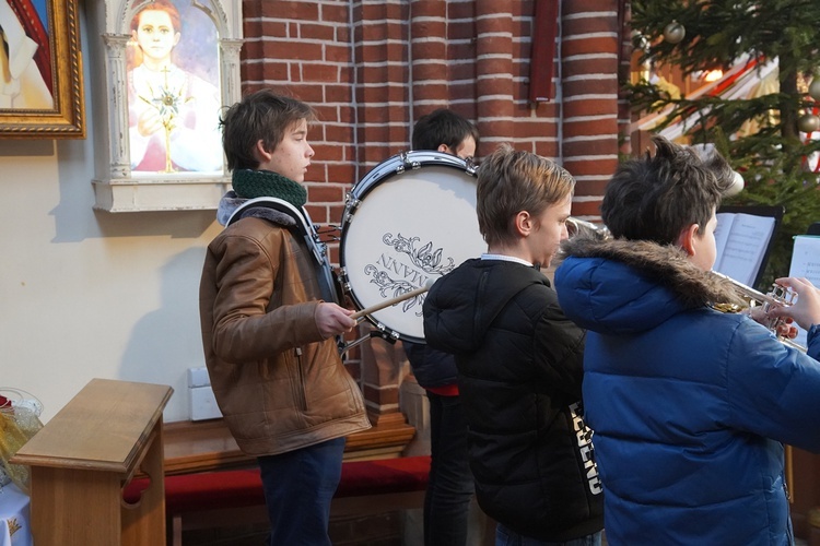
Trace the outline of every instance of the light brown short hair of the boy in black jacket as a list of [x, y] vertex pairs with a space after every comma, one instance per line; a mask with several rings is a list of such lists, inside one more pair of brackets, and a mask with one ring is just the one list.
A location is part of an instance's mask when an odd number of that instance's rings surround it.
[[515, 241], [516, 214], [527, 211], [538, 216], [574, 189], [575, 179], [554, 162], [500, 144], [478, 169], [476, 213], [484, 241]]

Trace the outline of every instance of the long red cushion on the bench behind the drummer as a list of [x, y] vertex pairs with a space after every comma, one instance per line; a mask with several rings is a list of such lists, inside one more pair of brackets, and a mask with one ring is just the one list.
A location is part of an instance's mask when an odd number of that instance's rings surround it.
[[[342, 464], [336, 497], [424, 490], [430, 456], [406, 456]], [[133, 479], [124, 491], [127, 502], [139, 500], [147, 478]], [[199, 472], [165, 476], [165, 507], [168, 513], [212, 508], [265, 505], [259, 468]]]

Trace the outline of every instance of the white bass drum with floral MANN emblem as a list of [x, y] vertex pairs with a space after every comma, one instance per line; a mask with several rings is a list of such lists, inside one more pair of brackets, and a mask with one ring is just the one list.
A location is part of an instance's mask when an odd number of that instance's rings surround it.
[[[340, 280], [358, 309], [401, 296], [487, 249], [476, 215], [476, 169], [440, 152], [378, 164], [348, 194]], [[386, 339], [424, 343], [421, 294], [366, 314]]]

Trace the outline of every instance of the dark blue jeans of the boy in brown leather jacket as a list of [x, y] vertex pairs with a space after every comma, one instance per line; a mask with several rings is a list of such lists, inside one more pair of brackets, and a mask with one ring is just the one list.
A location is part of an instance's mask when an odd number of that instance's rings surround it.
[[260, 456], [270, 546], [330, 546], [330, 501], [341, 479], [344, 438]]

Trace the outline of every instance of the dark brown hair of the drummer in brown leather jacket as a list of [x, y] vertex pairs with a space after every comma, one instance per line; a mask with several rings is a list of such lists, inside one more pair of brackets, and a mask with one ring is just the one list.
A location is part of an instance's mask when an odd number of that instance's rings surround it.
[[272, 152], [282, 142], [288, 128], [301, 120], [316, 120], [316, 111], [295, 98], [261, 90], [245, 96], [220, 118], [222, 147], [229, 170], [256, 169], [256, 143]]

